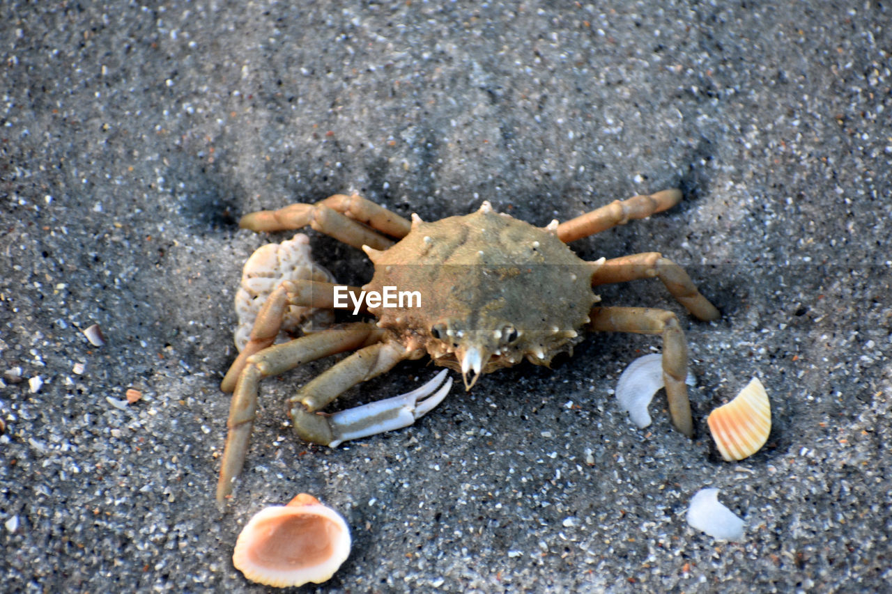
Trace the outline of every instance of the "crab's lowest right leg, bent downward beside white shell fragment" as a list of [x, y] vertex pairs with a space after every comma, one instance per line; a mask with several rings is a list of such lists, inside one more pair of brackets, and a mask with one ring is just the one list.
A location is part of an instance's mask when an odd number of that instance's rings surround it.
[[673, 425], [694, 435], [690, 400], [684, 380], [688, 375], [688, 345], [672, 311], [650, 308], [592, 308], [588, 329], [595, 332], [663, 334], [663, 379]]

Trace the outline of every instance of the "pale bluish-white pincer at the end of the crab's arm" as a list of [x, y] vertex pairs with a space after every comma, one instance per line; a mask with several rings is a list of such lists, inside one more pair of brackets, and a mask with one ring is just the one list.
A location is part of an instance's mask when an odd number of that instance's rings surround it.
[[452, 378], [448, 378], [443, 384], [444, 377], [446, 369], [412, 392], [387, 400], [369, 402], [361, 407], [347, 408], [328, 417], [328, 425], [335, 434], [335, 440], [328, 446], [335, 448], [343, 441], [356, 440], [412, 425], [446, 398], [452, 387]]

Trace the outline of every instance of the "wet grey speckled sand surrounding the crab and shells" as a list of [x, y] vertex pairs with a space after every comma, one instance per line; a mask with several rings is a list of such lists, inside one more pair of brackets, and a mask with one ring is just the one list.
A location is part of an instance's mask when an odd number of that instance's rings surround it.
[[[235, 538], [301, 491], [353, 533], [318, 591], [888, 588], [888, 2], [302, 4], [0, 6], [4, 590], [262, 591]], [[698, 322], [655, 280], [600, 291], [679, 314], [695, 440], [662, 392], [646, 429], [615, 402], [659, 337], [593, 336], [336, 450], [294, 438], [281, 405], [326, 359], [262, 384], [215, 507], [235, 289], [290, 236], [241, 215], [357, 191], [406, 217], [489, 200], [544, 226], [666, 187], [681, 205], [573, 248], [663, 252], [722, 310]], [[309, 233], [340, 281], [370, 278]], [[337, 404], [433, 373], [402, 364]], [[772, 433], [729, 464], [705, 418], [753, 376]], [[742, 540], [686, 523], [703, 487]]]

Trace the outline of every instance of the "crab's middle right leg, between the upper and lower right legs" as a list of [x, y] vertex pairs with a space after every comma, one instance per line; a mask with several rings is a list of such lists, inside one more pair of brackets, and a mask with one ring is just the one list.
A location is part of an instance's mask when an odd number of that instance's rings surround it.
[[719, 318], [719, 310], [701, 295], [688, 273], [659, 252], [633, 253], [603, 262], [591, 276], [591, 285], [624, 283], [657, 276], [669, 293], [690, 313], [702, 320]]

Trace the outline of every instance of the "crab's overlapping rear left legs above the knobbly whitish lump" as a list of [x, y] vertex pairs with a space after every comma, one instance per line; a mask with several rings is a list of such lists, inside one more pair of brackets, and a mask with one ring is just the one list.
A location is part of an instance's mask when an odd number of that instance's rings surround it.
[[386, 250], [393, 244], [384, 235], [402, 238], [411, 228], [408, 219], [358, 194], [335, 194], [315, 204], [251, 212], [239, 225], [252, 231], [284, 231], [309, 225], [353, 247], [368, 245], [376, 250]]

